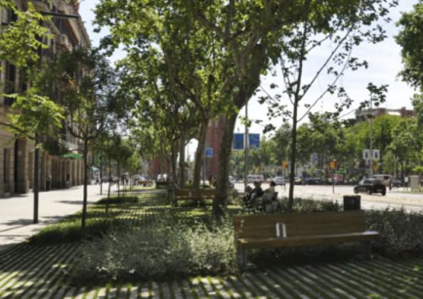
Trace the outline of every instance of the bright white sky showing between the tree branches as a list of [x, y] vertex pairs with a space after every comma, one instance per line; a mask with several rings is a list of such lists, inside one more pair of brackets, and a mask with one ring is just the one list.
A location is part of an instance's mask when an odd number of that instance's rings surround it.
[[[98, 4], [98, 0], [83, 0], [80, 4], [80, 15], [85, 22], [88, 34], [91, 38], [93, 46], [98, 46], [100, 38], [108, 34], [108, 31], [103, 29], [100, 33], [94, 33], [93, 31], [93, 20], [95, 14], [93, 9]], [[381, 23], [385, 31], [387, 31], [387, 38], [385, 41], [377, 44], [362, 44], [353, 50], [352, 56], [357, 56], [360, 59], [365, 59], [369, 63], [367, 69], [360, 69], [354, 72], [347, 70], [343, 78], [338, 81], [339, 85], [342, 85], [347, 90], [350, 98], [354, 99], [355, 102], [349, 110], [346, 110], [344, 114], [351, 112], [348, 117], [354, 117], [353, 110], [357, 107], [358, 103], [365, 100], [368, 97], [366, 86], [372, 82], [375, 85], [387, 84], [387, 101], [382, 107], [399, 109], [401, 107], [412, 108], [410, 98], [414, 93], [414, 90], [407, 84], [403, 83], [397, 74], [402, 69], [400, 51], [401, 48], [395, 43], [394, 36], [397, 35], [399, 29], [395, 26], [395, 22], [398, 21], [400, 13], [403, 11], [411, 11], [412, 6], [417, 3], [417, 0], [399, 0], [400, 4], [395, 9], [390, 11], [390, 18], [393, 20], [391, 23]], [[310, 80], [319, 68], [319, 63], [325, 59], [333, 44], [325, 44], [316, 50], [308, 59], [308, 63], [305, 65], [305, 79]], [[114, 62], [120, 58], [123, 58], [125, 53], [123, 51], [116, 51], [110, 58], [110, 61]], [[280, 72], [279, 72], [280, 73]], [[308, 95], [304, 98], [304, 103], [312, 103], [315, 98], [320, 95], [324, 90], [325, 86], [330, 82], [330, 78], [327, 76], [320, 77], [313, 88], [310, 89]], [[283, 80], [281, 75], [276, 78], [270, 76], [263, 76], [261, 78], [261, 86], [268, 91], [268, 93], [276, 93], [278, 90], [271, 90], [268, 86], [271, 83], [276, 83], [279, 86], [283, 86]], [[281, 90], [280, 90], [281, 91]], [[327, 95], [323, 97], [320, 102], [315, 105], [312, 112], [325, 112], [333, 111], [335, 103], [338, 99], [335, 96]], [[249, 118], [252, 120], [263, 120], [264, 123], [272, 123], [275, 127], [282, 125], [281, 119], [268, 120], [266, 115], [267, 107], [258, 103], [258, 95], [251, 98], [249, 101]], [[301, 107], [300, 115], [305, 112], [305, 108]], [[244, 109], [240, 111], [240, 115], [245, 115]], [[305, 117], [305, 121], [307, 118]], [[250, 132], [261, 133], [263, 130], [262, 125], [252, 125]], [[244, 127], [241, 122], [236, 123], [235, 132], [244, 132]]]

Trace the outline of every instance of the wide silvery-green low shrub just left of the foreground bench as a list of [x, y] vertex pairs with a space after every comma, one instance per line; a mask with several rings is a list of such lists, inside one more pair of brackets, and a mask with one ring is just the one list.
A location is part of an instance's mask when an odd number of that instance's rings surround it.
[[150, 227], [113, 229], [85, 242], [70, 269], [74, 281], [176, 278], [236, 269], [230, 221], [206, 226], [172, 218]]

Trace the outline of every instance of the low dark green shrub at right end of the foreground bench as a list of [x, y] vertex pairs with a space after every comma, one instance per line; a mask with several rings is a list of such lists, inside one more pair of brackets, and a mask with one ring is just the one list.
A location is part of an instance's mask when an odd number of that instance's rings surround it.
[[366, 211], [367, 229], [380, 236], [373, 248], [384, 256], [395, 257], [423, 253], [423, 213], [404, 209]]

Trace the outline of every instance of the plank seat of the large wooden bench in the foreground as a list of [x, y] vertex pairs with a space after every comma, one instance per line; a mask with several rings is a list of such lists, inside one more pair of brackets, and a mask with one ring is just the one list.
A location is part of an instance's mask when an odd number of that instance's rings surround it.
[[333, 234], [318, 236], [295, 236], [287, 238], [239, 238], [241, 248], [276, 248], [296, 247], [308, 245], [323, 245], [330, 243], [345, 243], [355, 241], [374, 240], [379, 233], [377, 231], [363, 231], [361, 233]]

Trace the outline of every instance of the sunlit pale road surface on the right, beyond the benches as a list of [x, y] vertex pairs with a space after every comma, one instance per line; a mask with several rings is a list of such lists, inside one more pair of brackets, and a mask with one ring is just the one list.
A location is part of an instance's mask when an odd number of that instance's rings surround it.
[[[252, 186], [252, 184], [251, 184]], [[244, 190], [244, 184], [236, 183], [235, 188], [239, 191]], [[262, 188], [268, 188], [268, 184], [262, 184]], [[286, 184], [286, 189], [281, 186], [276, 187], [278, 196], [288, 196], [289, 184]], [[294, 196], [303, 199], [328, 199], [343, 203], [344, 195], [353, 195], [352, 186], [335, 186], [335, 193], [332, 193], [331, 185], [305, 185], [296, 186], [294, 188]], [[395, 189], [387, 191], [385, 196], [381, 194], [360, 194], [362, 209], [386, 209], [401, 208], [402, 206], [407, 211], [423, 211], [423, 194], [412, 194], [404, 192], [402, 189]]]

